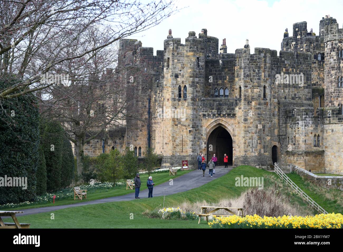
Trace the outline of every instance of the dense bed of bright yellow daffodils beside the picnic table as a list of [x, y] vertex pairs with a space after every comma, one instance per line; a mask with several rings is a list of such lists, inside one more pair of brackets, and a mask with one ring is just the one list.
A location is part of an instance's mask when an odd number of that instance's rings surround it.
[[214, 217], [209, 223], [212, 228], [343, 228], [342, 214], [318, 214], [315, 216], [267, 217], [237, 215]]

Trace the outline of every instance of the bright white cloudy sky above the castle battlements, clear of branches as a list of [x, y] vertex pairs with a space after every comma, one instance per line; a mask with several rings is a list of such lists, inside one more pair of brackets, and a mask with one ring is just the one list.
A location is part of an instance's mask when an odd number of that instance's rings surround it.
[[285, 28], [292, 36], [293, 23], [306, 21], [307, 29], [318, 35], [319, 21], [330, 15], [343, 24], [343, 1], [323, 0], [181, 0], [175, 2], [178, 8], [184, 8], [161, 24], [130, 38], [142, 41], [143, 47], [163, 50], [163, 40], [167, 38], [169, 28], [174, 38], [185, 38], [189, 31], [196, 32], [206, 28], [208, 35], [217, 37], [219, 45], [226, 38], [227, 52], [234, 53], [243, 48], [249, 39], [251, 53], [255, 47], [280, 51]]

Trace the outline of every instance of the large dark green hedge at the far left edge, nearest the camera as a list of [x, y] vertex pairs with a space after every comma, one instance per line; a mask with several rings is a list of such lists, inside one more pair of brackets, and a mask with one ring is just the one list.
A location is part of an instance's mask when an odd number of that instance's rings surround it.
[[[2, 75], [0, 91], [14, 83], [14, 79], [9, 80]], [[32, 201], [36, 196], [39, 159], [39, 113], [36, 97], [27, 94], [18, 98], [0, 98], [0, 104], [0, 177], [7, 175], [27, 178], [26, 190], [21, 187], [0, 187], [0, 204]]]

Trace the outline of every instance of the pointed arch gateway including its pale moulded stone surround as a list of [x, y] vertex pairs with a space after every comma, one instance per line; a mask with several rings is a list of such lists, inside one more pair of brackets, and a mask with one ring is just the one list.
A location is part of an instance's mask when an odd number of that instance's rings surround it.
[[217, 165], [224, 165], [224, 154], [228, 156], [228, 165], [233, 165], [237, 146], [233, 139], [234, 129], [223, 119], [218, 118], [206, 127], [206, 161], [216, 154]]

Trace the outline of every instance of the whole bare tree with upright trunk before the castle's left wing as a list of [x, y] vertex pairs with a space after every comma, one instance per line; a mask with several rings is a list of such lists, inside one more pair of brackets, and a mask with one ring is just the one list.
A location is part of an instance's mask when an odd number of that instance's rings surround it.
[[[77, 46], [68, 52], [69, 56], [72, 58], [79, 51], [96, 47], [107, 40], [106, 36], [108, 34], [99, 32], [96, 27], [88, 28]], [[39, 92], [43, 123], [55, 120], [64, 127], [75, 146], [79, 174], [86, 143], [117, 127], [138, 130], [142, 124], [147, 124], [147, 106], [143, 102], [146, 93], [140, 90], [140, 82], [149, 75], [134, 65], [116, 68], [114, 73], [111, 67], [118, 62], [115, 46], [92, 54], [93, 57], [78, 69], [70, 67], [73, 62], [64, 65], [63, 72], [70, 76], [67, 83], [50, 85]]]

